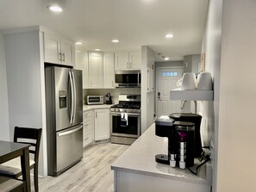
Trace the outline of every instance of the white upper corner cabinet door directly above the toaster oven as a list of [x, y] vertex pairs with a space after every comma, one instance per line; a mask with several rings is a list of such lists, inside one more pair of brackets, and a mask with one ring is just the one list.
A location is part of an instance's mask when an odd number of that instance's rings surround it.
[[103, 53], [89, 53], [90, 88], [103, 88]]

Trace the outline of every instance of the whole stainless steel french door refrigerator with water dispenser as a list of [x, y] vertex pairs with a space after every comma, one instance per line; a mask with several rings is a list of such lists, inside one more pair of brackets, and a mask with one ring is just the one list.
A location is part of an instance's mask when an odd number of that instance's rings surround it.
[[82, 71], [45, 67], [47, 108], [47, 167], [49, 176], [83, 158]]

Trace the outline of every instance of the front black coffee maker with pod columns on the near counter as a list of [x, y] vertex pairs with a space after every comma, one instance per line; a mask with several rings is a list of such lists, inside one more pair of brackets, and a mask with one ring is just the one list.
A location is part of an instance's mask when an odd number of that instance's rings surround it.
[[168, 154], [156, 155], [156, 162], [178, 166], [181, 169], [194, 165], [194, 123], [175, 121], [167, 115], [162, 115], [155, 121], [155, 134], [168, 138]]

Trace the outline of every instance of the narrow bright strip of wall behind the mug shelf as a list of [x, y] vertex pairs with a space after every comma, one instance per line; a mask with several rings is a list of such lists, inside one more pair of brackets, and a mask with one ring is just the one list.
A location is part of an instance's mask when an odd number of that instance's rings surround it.
[[[218, 122], [219, 122], [219, 94], [220, 68], [222, 44], [222, 0], [209, 0], [208, 15], [203, 34], [202, 53], [205, 53], [205, 71], [212, 74], [214, 81], [214, 102], [199, 102], [198, 111], [203, 116], [201, 135], [203, 146], [209, 145], [209, 139], [215, 144], [213, 160], [213, 191], [216, 191], [218, 165]], [[222, 146], [225, 147], [225, 146]], [[229, 147], [229, 146], [228, 146]], [[222, 159], [223, 160], [223, 159]], [[227, 190], [228, 191], [228, 190]], [[229, 190], [232, 191], [232, 190]]]

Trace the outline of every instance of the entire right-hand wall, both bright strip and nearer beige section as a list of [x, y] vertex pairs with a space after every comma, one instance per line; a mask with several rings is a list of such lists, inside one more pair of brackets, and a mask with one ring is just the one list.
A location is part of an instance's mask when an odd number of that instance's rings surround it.
[[203, 52], [215, 101], [200, 107], [215, 141], [213, 191], [255, 191], [255, 7], [254, 0], [209, 1]]

